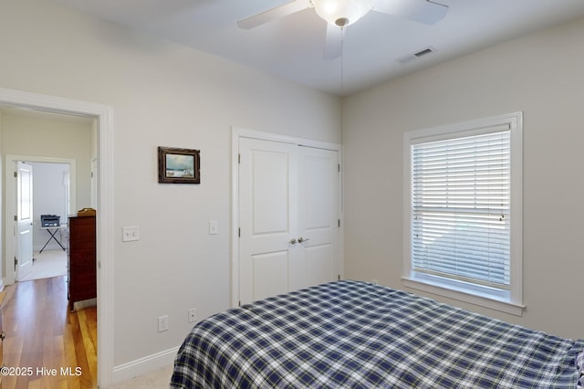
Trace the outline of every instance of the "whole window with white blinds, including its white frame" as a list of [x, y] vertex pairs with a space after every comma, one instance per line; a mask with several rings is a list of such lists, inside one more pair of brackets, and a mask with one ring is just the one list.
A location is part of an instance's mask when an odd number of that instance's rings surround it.
[[406, 286], [522, 312], [522, 114], [405, 134]]

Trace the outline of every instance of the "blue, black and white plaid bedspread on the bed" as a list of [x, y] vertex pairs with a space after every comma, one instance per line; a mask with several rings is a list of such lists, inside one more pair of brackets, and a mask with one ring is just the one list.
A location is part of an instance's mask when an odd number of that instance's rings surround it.
[[198, 323], [171, 388], [576, 388], [584, 340], [339, 281]]

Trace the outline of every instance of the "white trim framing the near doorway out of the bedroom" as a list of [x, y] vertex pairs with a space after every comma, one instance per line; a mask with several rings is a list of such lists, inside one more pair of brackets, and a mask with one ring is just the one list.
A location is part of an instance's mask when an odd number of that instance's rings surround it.
[[[41, 95], [16, 89], [0, 88], [0, 106], [44, 111], [57, 114], [84, 116], [95, 119], [97, 137], [97, 192], [99, 218], [97, 221], [98, 258], [98, 385], [110, 386], [113, 374], [114, 339], [113, 333], [113, 134], [112, 109], [97, 103], [70, 100], [55, 96]], [[10, 195], [5, 193], [5, 197]], [[5, 198], [5, 201], [8, 199]], [[6, 219], [6, 216], [3, 215]], [[5, 232], [6, 234], [6, 232]], [[5, 239], [5, 246], [12, 245], [12, 239]], [[12, 247], [10, 247], [12, 249]], [[5, 253], [8, 251], [5, 247]], [[14, 282], [14, 274], [9, 274], [10, 258], [5, 259], [4, 282]], [[11, 279], [12, 276], [12, 279]]]

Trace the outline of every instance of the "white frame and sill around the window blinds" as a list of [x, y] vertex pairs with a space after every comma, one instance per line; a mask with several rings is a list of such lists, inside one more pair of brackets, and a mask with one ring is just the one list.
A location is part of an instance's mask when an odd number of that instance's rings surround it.
[[[510, 289], [497, 290], [412, 271], [412, 144], [473, 133], [510, 131]], [[492, 131], [487, 129], [493, 129]], [[523, 305], [523, 112], [406, 131], [403, 134], [403, 274], [407, 288], [521, 316]]]

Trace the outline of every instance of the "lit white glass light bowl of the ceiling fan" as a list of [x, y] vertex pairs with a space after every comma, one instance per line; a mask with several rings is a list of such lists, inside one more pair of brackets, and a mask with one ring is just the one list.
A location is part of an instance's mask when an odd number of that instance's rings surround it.
[[373, 6], [372, 0], [312, 0], [317, 15], [328, 23], [349, 26], [365, 16]]

